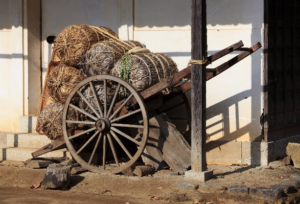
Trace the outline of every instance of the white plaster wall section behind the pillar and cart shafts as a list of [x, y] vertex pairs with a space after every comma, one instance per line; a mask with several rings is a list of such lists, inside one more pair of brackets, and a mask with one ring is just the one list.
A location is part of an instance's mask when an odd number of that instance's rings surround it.
[[[207, 0], [207, 47], [211, 55], [242, 40], [262, 42], [263, 1]], [[187, 66], [191, 58], [191, 1], [135, 0], [134, 40]], [[209, 65], [214, 68], [240, 52]], [[262, 49], [206, 83], [207, 139], [253, 141], [260, 135]]]

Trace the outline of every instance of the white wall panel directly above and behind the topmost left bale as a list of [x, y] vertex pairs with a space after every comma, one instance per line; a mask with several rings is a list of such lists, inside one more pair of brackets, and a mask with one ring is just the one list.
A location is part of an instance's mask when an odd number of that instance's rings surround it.
[[119, 34], [119, 1], [42, 0], [43, 81], [53, 47], [47, 43], [47, 36], [57, 36], [62, 29], [75, 24], [104, 26]]

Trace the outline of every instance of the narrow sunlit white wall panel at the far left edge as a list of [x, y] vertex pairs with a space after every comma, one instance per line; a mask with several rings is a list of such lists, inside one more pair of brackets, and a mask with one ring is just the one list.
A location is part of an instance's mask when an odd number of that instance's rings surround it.
[[22, 1], [0, 7], [0, 130], [17, 131], [23, 115]]

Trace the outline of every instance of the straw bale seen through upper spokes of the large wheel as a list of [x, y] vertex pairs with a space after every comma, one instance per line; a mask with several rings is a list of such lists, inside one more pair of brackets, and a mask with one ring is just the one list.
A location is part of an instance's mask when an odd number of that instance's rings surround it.
[[[104, 87], [103, 87], [103, 80], [95, 80], [92, 82], [96, 91], [96, 94], [99, 99], [101, 111], [103, 112], [104, 110]], [[111, 84], [107, 83], [106, 84], [106, 100], [107, 100], [107, 107], [109, 108], [110, 103], [112, 101], [112, 98], [114, 96], [114, 90], [116, 89], [114, 86]], [[88, 100], [88, 102], [91, 103], [95, 107], [96, 110], [99, 111], [98, 105], [96, 102], [96, 99], [94, 98], [93, 90], [89, 86], [89, 84], [85, 84], [81, 89], [80, 92], [83, 94], [83, 96]], [[85, 103], [83, 99], [80, 99], [79, 101], [79, 107], [89, 114], [93, 114], [93, 110], [91, 110], [88, 105]], [[108, 109], [107, 108], [107, 109]]]

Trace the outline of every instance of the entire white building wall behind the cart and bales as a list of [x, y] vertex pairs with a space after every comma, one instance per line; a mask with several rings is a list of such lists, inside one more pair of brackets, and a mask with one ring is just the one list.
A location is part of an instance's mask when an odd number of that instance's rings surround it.
[[[35, 22], [32, 23], [34, 27], [31, 29], [32, 35], [26, 34], [29, 32], [31, 21], [36, 19], [33, 18], [28, 21], [28, 25], [26, 24], [30, 16], [28, 17], [28, 11], [24, 8], [32, 9], [33, 7], [33, 5], [28, 7], [30, 5], [28, 2], [32, 3], [31, 0], [4, 0], [3, 3], [6, 6], [1, 7], [4, 11], [0, 12], [0, 19], [4, 19], [2, 16], [7, 16], [5, 19], [11, 19], [11, 23], [9, 24], [9, 20], [0, 21], [0, 125], [2, 125], [0, 130], [17, 130], [18, 116], [37, 113], [38, 102], [32, 98], [39, 98], [40, 93], [32, 91], [30, 87], [36, 90], [37, 86], [40, 86], [40, 81], [36, 77], [39, 65], [36, 60], [37, 56], [34, 57], [32, 63], [26, 62], [30, 59], [29, 56], [27, 57], [30, 52], [27, 54], [26, 50], [31, 48], [29, 43], [37, 44], [38, 31]], [[12, 14], [17, 8], [17, 6], [12, 6], [15, 3], [18, 3], [18, 7], [23, 5], [20, 11], [24, 10], [24, 17], [20, 18]], [[49, 35], [57, 36], [60, 30], [73, 24], [106, 26], [116, 32], [121, 39], [139, 40], [145, 43], [152, 52], [163, 52], [171, 56], [179, 70], [184, 69], [190, 59], [190, 0], [42, 0], [41, 3], [42, 78], [47, 72], [52, 53], [52, 45], [48, 44], [45, 39]], [[22, 16], [22, 12], [20, 15]], [[23, 19], [23, 30], [13, 26], [17, 19]], [[245, 47], [250, 47], [258, 41], [262, 42], [262, 25], [263, 1], [261, 0], [207, 1], [208, 54], [211, 55], [239, 40], [244, 42]], [[24, 41], [16, 42], [15, 39], [22, 39], [17, 38], [20, 32], [21, 36], [25, 36]], [[33, 36], [31, 42], [26, 41], [28, 36]], [[7, 45], [2, 46], [4, 43]], [[21, 49], [13, 46], [14, 43], [21, 45]], [[25, 50], [24, 53], [22, 49]], [[14, 58], [12, 53], [19, 54], [21, 57]], [[216, 67], [238, 53], [229, 54], [209, 65], [208, 68]], [[37, 54], [37, 51], [34, 51], [31, 56], [34, 54]], [[21, 62], [25, 62], [25, 65], [17, 66], [17, 63]], [[5, 67], [12, 67], [12, 69], [5, 69]], [[33, 68], [30, 69], [30, 67]], [[30, 72], [36, 73], [33, 75], [29, 74]], [[22, 73], [25, 73], [24, 76]], [[17, 77], [13, 77], [14, 75]], [[28, 76], [35, 76], [35, 78], [33, 80]], [[16, 84], [19, 85], [18, 88], [15, 87]], [[207, 139], [253, 141], [260, 135], [262, 49], [208, 81], [206, 87]], [[18, 94], [13, 91], [16, 89]], [[32, 94], [31, 97], [30, 94]], [[30, 99], [33, 100], [32, 103]], [[16, 104], [13, 105], [11, 102], [14, 100]]]

